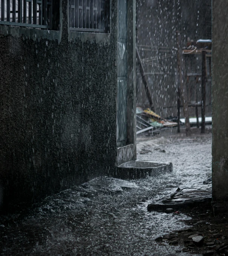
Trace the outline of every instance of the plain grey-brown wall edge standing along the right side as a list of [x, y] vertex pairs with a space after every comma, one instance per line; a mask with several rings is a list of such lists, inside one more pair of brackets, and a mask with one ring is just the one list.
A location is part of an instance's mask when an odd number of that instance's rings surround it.
[[228, 2], [213, 0], [212, 20], [212, 196], [228, 200]]

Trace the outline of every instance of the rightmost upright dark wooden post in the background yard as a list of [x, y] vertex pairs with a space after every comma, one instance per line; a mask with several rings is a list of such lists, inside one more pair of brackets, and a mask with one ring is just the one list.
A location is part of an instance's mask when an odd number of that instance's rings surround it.
[[205, 133], [205, 106], [206, 106], [206, 52], [202, 51], [202, 124], [201, 133]]

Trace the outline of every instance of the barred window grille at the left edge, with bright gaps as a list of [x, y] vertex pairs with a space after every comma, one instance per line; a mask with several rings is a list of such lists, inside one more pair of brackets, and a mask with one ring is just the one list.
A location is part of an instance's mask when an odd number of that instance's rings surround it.
[[0, 24], [51, 29], [53, 0], [0, 1]]

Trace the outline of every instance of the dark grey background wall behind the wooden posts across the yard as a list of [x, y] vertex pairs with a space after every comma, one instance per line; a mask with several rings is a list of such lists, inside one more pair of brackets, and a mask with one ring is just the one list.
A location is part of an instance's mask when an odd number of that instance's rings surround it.
[[[173, 49], [177, 47], [176, 31], [181, 32], [181, 46], [186, 46], [188, 38], [194, 41], [211, 39], [211, 0], [137, 0], [137, 45], [161, 47], [154, 48], [153, 52], [141, 50], [140, 55], [142, 59], [154, 59], [153, 66], [144, 63], [144, 67], [145, 72], [155, 73], [148, 75], [148, 83], [156, 113], [162, 117], [177, 116], [177, 62], [176, 50]], [[166, 47], [164, 51], [161, 51], [162, 47]], [[161, 58], [165, 54], [167, 58]], [[201, 73], [201, 56], [197, 57], [198, 60], [194, 58], [191, 61], [191, 72]], [[190, 86], [196, 88], [194, 80]], [[200, 84], [198, 89], [200, 97]], [[191, 100], [196, 100], [194, 94]], [[137, 68], [137, 104], [140, 103], [149, 102]], [[206, 85], [206, 105], [206, 115], [211, 115], [211, 81]], [[190, 116], [195, 116], [195, 108], [189, 108], [189, 111]]]

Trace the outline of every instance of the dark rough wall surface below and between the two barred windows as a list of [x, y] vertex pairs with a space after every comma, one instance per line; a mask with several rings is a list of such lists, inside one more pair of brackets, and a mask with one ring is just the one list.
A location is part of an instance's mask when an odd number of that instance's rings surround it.
[[0, 34], [1, 205], [37, 202], [114, 170], [116, 6], [106, 41], [69, 41], [66, 0], [58, 40], [26, 28]]

